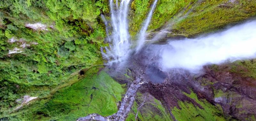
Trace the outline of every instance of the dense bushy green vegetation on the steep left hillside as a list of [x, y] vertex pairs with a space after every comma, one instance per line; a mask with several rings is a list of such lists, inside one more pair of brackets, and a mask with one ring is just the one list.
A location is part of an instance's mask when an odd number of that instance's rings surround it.
[[[0, 117], [16, 99], [48, 95], [79, 70], [103, 63], [100, 13], [108, 13], [107, 0], [0, 1]], [[25, 27], [37, 22], [48, 31]], [[22, 52], [9, 54], [15, 47]]]

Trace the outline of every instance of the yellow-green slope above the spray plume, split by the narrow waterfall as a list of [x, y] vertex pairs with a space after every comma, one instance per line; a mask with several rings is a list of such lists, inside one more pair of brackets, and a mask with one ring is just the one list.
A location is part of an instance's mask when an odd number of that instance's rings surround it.
[[[129, 32], [134, 39], [147, 17], [153, 0], [134, 0], [130, 12]], [[165, 26], [168, 36], [194, 37], [220, 30], [256, 16], [255, 1], [236, 0], [158, 0], [148, 31]]]

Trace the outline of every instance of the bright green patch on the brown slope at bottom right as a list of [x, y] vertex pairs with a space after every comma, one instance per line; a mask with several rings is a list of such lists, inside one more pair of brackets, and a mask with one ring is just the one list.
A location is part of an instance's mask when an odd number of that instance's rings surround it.
[[198, 106], [189, 102], [179, 102], [179, 107], [172, 109], [172, 114], [178, 121], [225, 121], [221, 106], [214, 106], [211, 103], [204, 100], [199, 100], [196, 93], [190, 94], [184, 93], [186, 96], [194, 99], [196, 103], [200, 104], [204, 109], [200, 109]]

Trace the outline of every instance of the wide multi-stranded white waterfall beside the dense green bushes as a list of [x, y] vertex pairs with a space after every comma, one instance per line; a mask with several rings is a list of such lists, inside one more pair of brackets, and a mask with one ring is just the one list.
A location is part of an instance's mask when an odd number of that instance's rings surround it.
[[117, 0], [114, 5], [113, 0], [110, 0], [110, 12], [111, 12], [111, 26], [112, 34], [108, 34], [107, 21], [102, 16], [102, 19], [106, 25], [107, 39], [110, 42], [109, 47], [105, 47], [106, 53], [102, 55], [108, 60], [108, 64], [114, 62], [124, 62], [125, 58], [130, 53], [130, 35], [128, 32], [128, 5], [130, 0], [122, 0], [118, 6]]

